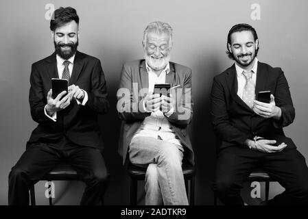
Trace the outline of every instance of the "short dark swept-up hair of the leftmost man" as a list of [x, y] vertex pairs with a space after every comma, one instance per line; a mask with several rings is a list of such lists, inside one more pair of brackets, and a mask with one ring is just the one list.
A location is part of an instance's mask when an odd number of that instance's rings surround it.
[[71, 21], [75, 21], [79, 25], [79, 16], [74, 8], [60, 7], [54, 11], [54, 14], [50, 20], [50, 29], [51, 31], [55, 31], [56, 28], [65, 25]]

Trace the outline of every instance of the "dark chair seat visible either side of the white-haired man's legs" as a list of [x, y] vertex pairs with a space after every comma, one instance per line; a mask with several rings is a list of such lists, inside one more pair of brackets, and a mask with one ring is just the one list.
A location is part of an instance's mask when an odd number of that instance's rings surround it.
[[[184, 178], [191, 178], [195, 175], [196, 169], [191, 164], [183, 164], [182, 171]], [[134, 179], [145, 179], [146, 168], [139, 166], [134, 166], [133, 164], [128, 164], [128, 175]]]

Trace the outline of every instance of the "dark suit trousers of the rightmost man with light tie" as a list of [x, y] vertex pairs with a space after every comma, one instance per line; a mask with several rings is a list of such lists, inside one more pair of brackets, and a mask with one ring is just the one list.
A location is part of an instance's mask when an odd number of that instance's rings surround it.
[[237, 146], [222, 149], [217, 157], [214, 187], [224, 205], [244, 205], [240, 196], [242, 183], [257, 167], [278, 179], [285, 188], [269, 205], [308, 205], [308, 168], [305, 157], [296, 149], [262, 153]]

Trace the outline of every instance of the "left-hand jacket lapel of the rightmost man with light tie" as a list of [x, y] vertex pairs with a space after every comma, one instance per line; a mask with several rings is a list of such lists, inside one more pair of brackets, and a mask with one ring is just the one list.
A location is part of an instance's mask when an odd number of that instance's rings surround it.
[[245, 107], [246, 110], [251, 112], [252, 109], [248, 107], [248, 105], [237, 95], [237, 71], [235, 70], [235, 64], [229, 68], [228, 73], [226, 75], [226, 83], [228, 84], [228, 88], [233, 99], [241, 106]]

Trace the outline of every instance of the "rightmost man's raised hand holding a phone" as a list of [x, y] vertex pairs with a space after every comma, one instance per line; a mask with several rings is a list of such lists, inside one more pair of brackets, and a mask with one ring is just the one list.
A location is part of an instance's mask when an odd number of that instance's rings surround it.
[[281, 118], [281, 108], [276, 107], [273, 94], [270, 95], [270, 103], [254, 101], [254, 107], [252, 110], [264, 118], [275, 118], [277, 120]]

